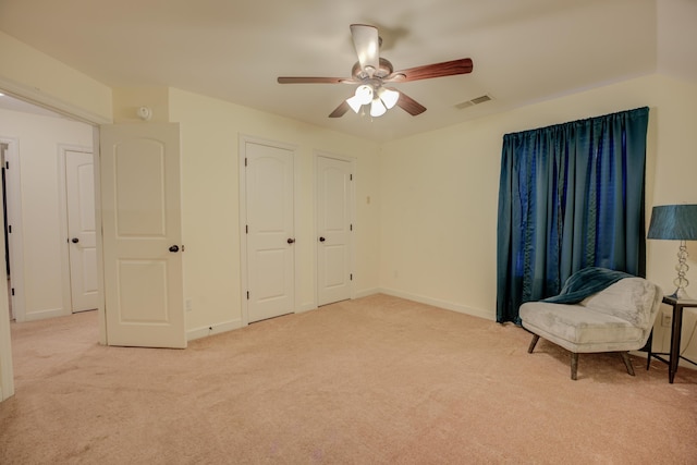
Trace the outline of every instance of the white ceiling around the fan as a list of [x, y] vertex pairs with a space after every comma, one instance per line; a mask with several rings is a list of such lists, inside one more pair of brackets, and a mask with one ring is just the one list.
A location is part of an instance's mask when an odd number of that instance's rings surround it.
[[[672, 19], [657, 14], [668, 3]], [[382, 142], [653, 73], [659, 19], [692, 30], [696, 11], [695, 0], [0, 0], [0, 30], [111, 87], [172, 86]], [[474, 71], [395, 85], [428, 109], [418, 117], [329, 119], [353, 86], [276, 78], [350, 76], [351, 23], [378, 27], [395, 70], [472, 58]], [[687, 34], [665, 35], [663, 61], [695, 77]], [[492, 100], [456, 108], [482, 95]]]

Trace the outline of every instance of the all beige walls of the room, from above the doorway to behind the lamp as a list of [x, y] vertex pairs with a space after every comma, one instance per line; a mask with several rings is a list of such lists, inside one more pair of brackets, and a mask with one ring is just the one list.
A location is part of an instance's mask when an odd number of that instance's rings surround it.
[[[309, 126], [178, 89], [110, 89], [0, 33], [0, 86], [94, 122], [181, 123], [185, 298], [189, 335], [242, 320], [240, 289], [239, 139], [241, 135], [298, 147], [297, 254], [301, 308], [315, 304], [315, 150], [357, 159], [356, 268], [358, 295], [376, 290], [493, 319], [496, 211], [503, 134], [649, 106], [647, 210], [695, 201], [696, 157], [690, 102], [695, 83], [651, 75], [530, 105], [393, 143]], [[56, 78], [59, 76], [60, 78]], [[113, 98], [113, 100], [112, 100]], [[485, 103], [486, 105], [486, 103]], [[167, 118], [163, 113], [168, 113]], [[145, 124], [145, 123], [144, 123]], [[366, 201], [367, 197], [371, 203]], [[667, 290], [675, 244], [650, 242], [649, 278]], [[693, 257], [697, 250], [690, 245]], [[694, 259], [693, 271], [697, 272]], [[697, 279], [694, 279], [697, 282]], [[694, 292], [697, 293], [697, 292]], [[688, 317], [686, 328], [694, 323]], [[689, 333], [689, 331], [686, 331]], [[665, 344], [665, 332], [657, 332]], [[693, 342], [687, 354], [695, 354]]]

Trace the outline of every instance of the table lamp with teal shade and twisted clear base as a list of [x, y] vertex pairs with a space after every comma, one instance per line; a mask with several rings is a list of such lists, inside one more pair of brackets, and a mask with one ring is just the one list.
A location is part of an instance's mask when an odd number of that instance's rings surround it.
[[697, 241], [697, 205], [662, 205], [653, 207], [648, 238], [680, 241], [677, 253], [677, 278], [673, 284], [677, 286], [670, 297], [689, 299], [685, 287], [689, 284], [685, 273], [687, 265], [687, 246], [685, 241]]

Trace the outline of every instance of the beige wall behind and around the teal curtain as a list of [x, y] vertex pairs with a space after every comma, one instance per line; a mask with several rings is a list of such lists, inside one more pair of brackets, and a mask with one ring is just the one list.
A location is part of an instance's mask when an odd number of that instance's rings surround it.
[[[697, 168], [690, 154], [695, 93], [695, 83], [651, 75], [384, 144], [381, 287], [496, 319], [500, 157], [502, 137], [510, 132], [648, 106], [647, 218], [653, 205], [696, 203], [697, 184], [690, 182]], [[672, 291], [676, 246], [648, 244], [648, 278], [664, 290]], [[697, 270], [697, 248], [690, 252]], [[686, 317], [687, 334], [694, 321]], [[657, 328], [657, 344], [663, 347], [665, 334]], [[696, 347], [693, 341], [687, 354], [697, 354]]]

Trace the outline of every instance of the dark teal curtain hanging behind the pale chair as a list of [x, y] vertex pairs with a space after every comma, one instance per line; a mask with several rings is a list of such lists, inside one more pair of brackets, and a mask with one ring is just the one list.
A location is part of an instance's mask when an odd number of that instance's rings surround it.
[[648, 108], [506, 134], [501, 155], [497, 320], [559, 294], [595, 266], [646, 276]]

